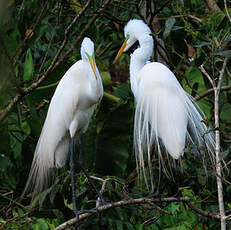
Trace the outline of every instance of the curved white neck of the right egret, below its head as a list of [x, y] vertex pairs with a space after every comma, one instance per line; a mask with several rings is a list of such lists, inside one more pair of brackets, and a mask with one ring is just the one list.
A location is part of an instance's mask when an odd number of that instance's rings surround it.
[[139, 71], [150, 60], [153, 52], [153, 38], [151, 35], [141, 34], [137, 36], [140, 47], [131, 54], [130, 81], [133, 93], [136, 96], [137, 84], [139, 81]]

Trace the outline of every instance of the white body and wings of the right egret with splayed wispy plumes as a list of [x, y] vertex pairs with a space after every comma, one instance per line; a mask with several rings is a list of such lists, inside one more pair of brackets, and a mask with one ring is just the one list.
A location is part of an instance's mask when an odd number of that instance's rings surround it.
[[[151, 161], [154, 143], [160, 158], [163, 145], [174, 159], [178, 159], [184, 153], [186, 137], [201, 145], [201, 135], [206, 133], [207, 127], [201, 122], [202, 111], [167, 67], [160, 63], [147, 64], [137, 79], [134, 149], [138, 168], [144, 171], [144, 158]], [[188, 125], [192, 135], [187, 131]], [[212, 152], [212, 134], [206, 135], [205, 140]]]

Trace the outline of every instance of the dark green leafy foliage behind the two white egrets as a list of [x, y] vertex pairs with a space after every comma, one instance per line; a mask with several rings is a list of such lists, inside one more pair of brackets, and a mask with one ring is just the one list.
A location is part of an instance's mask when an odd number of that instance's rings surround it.
[[[68, 167], [59, 170], [55, 184], [44, 191], [32, 204], [19, 197], [25, 186], [34, 149], [42, 129], [50, 99], [58, 81], [66, 70], [80, 58], [83, 36], [95, 43], [96, 62], [101, 72], [105, 94], [89, 125], [85, 137], [84, 163], [91, 175], [108, 179], [104, 191], [107, 201], [142, 197], [148, 189], [138, 184], [132, 150], [135, 101], [129, 85], [129, 54], [112, 64], [123, 41], [123, 27], [131, 18], [145, 20], [153, 32], [155, 49], [153, 60], [166, 64], [177, 76], [183, 88], [198, 100], [207, 116], [208, 125], [214, 122], [214, 96], [209, 81], [199, 70], [204, 65], [213, 79], [217, 79], [224, 58], [231, 56], [230, 2], [217, 0], [217, 8], [201, 0], [120, 1], [111, 0], [101, 13], [100, 0], [77, 20], [67, 36], [60, 63], [47, 74], [38, 87], [24, 95], [22, 91], [46, 73], [55, 58], [64, 31], [87, 1], [9, 0], [0, 3], [0, 109], [4, 109], [17, 95], [18, 103], [0, 123], [0, 229], [54, 229], [73, 217], [71, 185]], [[149, 2], [149, 3], [148, 3]], [[227, 11], [225, 10], [225, 5]], [[150, 4], [150, 5], [149, 5]], [[96, 19], [87, 24], [97, 14]], [[81, 35], [74, 49], [74, 41]], [[220, 132], [224, 199], [227, 214], [230, 200], [230, 141], [231, 93], [230, 63], [225, 70], [220, 93]], [[210, 90], [210, 91], [209, 91]], [[78, 148], [77, 148], [78, 149]], [[153, 174], [158, 178], [158, 162]], [[189, 196], [198, 208], [218, 213], [216, 178], [211, 167], [207, 171], [195, 146], [187, 143], [182, 160], [180, 181], [183, 196]], [[174, 170], [173, 170], [174, 171]], [[78, 209], [95, 206], [96, 194], [86, 177], [76, 168]], [[155, 180], [157, 181], [157, 180]], [[100, 189], [102, 183], [95, 181]], [[175, 195], [176, 177], [162, 175], [161, 196]], [[81, 229], [219, 229], [219, 222], [203, 217], [181, 202], [162, 204], [161, 212], [153, 207], [126, 206], [86, 219]], [[228, 228], [231, 228], [228, 223]]]

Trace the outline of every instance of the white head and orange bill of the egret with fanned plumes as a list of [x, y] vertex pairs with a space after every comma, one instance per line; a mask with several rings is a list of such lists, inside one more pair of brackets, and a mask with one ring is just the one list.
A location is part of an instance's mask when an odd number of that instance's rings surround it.
[[123, 45], [121, 46], [115, 61], [116, 62], [120, 55], [127, 51], [131, 46], [139, 39], [142, 38], [143, 34], [150, 34], [151, 30], [149, 27], [139, 19], [132, 19], [130, 20], [127, 25], [124, 27], [124, 36], [125, 36], [125, 41]]

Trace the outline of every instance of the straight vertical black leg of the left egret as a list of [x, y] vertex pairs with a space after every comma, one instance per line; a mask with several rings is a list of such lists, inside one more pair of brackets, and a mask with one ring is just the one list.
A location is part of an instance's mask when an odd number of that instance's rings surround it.
[[79, 214], [76, 205], [76, 189], [75, 189], [75, 172], [74, 172], [74, 152], [75, 152], [75, 140], [74, 137], [71, 138], [71, 146], [70, 146], [70, 171], [71, 171], [71, 184], [72, 184], [72, 202], [73, 202], [73, 209], [76, 216], [76, 229], [79, 225]]

